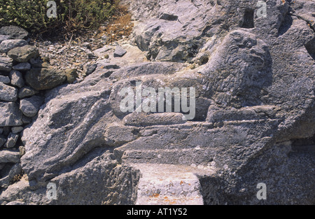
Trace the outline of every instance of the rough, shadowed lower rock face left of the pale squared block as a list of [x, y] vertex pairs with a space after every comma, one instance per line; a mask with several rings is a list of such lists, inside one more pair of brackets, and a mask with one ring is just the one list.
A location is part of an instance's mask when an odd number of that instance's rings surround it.
[[1, 193], [0, 204], [10, 204], [10, 201], [18, 199], [25, 200], [26, 204], [135, 204], [139, 171], [118, 164], [109, 152], [93, 152], [97, 157], [88, 155], [86, 160], [76, 165], [76, 169], [50, 181], [57, 185], [57, 200], [47, 199], [48, 183], [36, 184], [22, 178]]

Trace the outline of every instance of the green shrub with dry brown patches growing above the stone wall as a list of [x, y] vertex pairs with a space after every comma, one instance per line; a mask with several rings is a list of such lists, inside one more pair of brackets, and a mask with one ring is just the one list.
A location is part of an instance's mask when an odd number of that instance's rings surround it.
[[118, 0], [55, 0], [57, 17], [46, 13], [48, 0], [0, 0], [0, 26], [18, 25], [34, 33], [96, 29], [115, 13]]

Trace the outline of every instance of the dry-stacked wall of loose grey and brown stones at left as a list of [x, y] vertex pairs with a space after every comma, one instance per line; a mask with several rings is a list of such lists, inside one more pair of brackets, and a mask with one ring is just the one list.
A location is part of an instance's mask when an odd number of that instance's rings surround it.
[[43, 93], [66, 80], [76, 80], [75, 69], [58, 71], [41, 60], [38, 49], [29, 45], [29, 33], [20, 27], [0, 29], [0, 188], [19, 173], [25, 150], [21, 133], [41, 105]]

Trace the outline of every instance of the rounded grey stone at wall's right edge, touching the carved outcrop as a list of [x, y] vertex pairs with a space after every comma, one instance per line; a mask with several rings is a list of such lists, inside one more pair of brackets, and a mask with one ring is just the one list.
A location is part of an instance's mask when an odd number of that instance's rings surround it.
[[43, 98], [39, 96], [21, 99], [20, 110], [25, 116], [33, 117], [38, 113], [41, 104], [43, 104]]

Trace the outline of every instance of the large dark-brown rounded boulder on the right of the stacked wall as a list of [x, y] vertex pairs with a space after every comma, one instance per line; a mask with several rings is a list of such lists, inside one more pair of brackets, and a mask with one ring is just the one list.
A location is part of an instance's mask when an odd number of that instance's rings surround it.
[[48, 90], [66, 80], [62, 71], [56, 69], [31, 69], [25, 75], [27, 84], [36, 90]]

